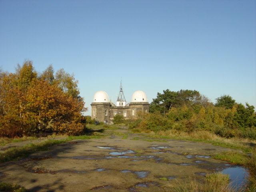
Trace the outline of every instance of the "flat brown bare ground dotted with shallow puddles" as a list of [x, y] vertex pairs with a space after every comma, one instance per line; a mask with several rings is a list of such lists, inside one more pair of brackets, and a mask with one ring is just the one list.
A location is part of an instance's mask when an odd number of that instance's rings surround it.
[[32, 192], [167, 192], [177, 183], [203, 180], [206, 173], [229, 167], [210, 157], [229, 150], [200, 142], [147, 139], [120, 127], [106, 138], [73, 140], [1, 164], [0, 181]]

